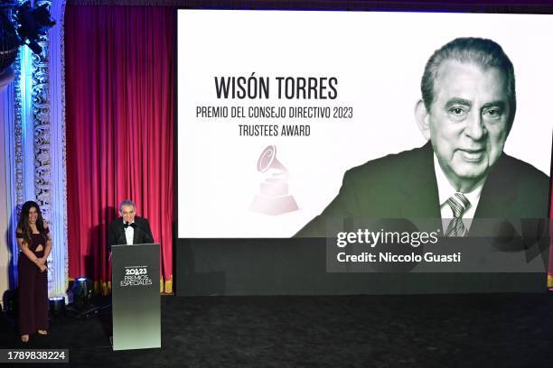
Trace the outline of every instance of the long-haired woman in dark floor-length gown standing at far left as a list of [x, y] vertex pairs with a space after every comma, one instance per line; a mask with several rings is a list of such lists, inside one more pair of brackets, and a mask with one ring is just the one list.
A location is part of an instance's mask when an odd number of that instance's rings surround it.
[[52, 250], [48, 226], [42, 220], [36, 202], [23, 204], [15, 232], [20, 253], [17, 261], [19, 283], [19, 335], [29, 341], [29, 335], [48, 334], [48, 265]]

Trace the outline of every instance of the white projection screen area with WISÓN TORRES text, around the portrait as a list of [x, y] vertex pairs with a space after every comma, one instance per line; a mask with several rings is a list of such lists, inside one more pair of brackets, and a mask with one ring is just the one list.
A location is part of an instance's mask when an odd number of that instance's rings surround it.
[[548, 175], [551, 34], [536, 14], [179, 10], [178, 237], [293, 236], [346, 170], [422, 146], [423, 70], [458, 37], [511, 59], [504, 151]]

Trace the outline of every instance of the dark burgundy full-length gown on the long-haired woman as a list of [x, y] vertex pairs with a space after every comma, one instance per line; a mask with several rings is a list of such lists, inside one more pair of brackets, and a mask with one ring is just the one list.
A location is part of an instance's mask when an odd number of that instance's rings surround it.
[[[48, 229], [46, 229], [48, 234]], [[18, 238], [23, 238], [17, 233]], [[31, 235], [33, 244], [29, 249], [41, 258], [46, 248], [46, 237], [42, 234]], [[42, 251], [36, 248], [42, 245]], [[46, 264], [47, 265], [47, 264]], [[33, 335], [37, 330], [48, 329], [48, 270], [41, 270], [23, 253], [17, 261], [17, 279], [19, 284], [19, 335]]]

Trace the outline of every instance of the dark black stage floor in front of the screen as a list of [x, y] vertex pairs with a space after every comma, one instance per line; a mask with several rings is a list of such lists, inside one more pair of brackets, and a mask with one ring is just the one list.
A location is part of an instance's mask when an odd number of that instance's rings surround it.
[[[124, 352], [109, 318], [52, 319], [28, 347], [69, 348], [61, 365], [83, 367], [553, 366], [551, 294], [163, 297], [163, 348]], [[0, 346], [22, 347], [0, 327]]]

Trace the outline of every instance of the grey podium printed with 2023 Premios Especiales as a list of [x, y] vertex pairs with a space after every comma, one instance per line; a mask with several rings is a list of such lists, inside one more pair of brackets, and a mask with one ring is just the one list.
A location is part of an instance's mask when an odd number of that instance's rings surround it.
[[111, 252], [113, 350], [161, 347], [159, 244]]

